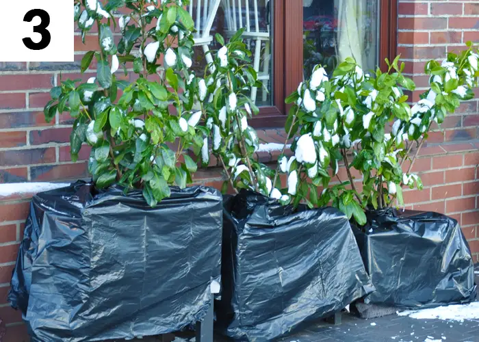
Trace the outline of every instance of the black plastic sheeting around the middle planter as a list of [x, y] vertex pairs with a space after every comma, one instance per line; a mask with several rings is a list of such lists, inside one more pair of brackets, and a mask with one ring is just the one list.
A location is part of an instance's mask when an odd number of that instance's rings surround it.
[[224, 201], [220, 327], [270, 341], [372, 291], [346, 215], [241, 192]]

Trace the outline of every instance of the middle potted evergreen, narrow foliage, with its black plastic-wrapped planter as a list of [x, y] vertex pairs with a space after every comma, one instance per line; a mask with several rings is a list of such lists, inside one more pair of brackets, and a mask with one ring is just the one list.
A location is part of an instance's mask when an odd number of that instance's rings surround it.
[[230, 337], [269, 341], [372, 289], [346, 215], [289, 205], [295, 192], [282, 193], [279, 176], [255, 159], [259, 140], [248, 118], [258, 109], [248, 96], [261, 84], [241, 35], [239, 30], [226, 44], [216, 37], [223, 46], [200, 103], [211, 153], [226, 176], [223, 190], [237, 193], [224, 199], [216, 317]]

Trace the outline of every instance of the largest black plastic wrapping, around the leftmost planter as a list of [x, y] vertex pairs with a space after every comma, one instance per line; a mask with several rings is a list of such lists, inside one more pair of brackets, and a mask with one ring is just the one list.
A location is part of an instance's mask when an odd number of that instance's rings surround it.
[[222, 196], [171, 189], [96, 192], [77, 182], [31, 200], [10, 304], [33, 341], [131, 339], [203, 319], [220, 281]]

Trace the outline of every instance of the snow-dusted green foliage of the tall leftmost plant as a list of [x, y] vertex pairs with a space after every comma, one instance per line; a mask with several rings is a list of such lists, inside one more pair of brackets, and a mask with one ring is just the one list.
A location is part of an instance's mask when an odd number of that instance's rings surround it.
[[[96, 77], [83, 83], [63, 79], [51, 90], [44, 114], [52, 120], [66, 111], [75, 118], [72, 159], [83, 143], [92, 147], [88, 167], [97, 187], [118, 182], [140, 188], [153, 206], [170, 195], [169, 185], [192, 182], [197, 166], [187, 149], [204, 159], [208, 155], [203, 148], [208, 130], [200, 126], [205, 113], [194, 108], [200, 90], [206, 92], [190, 70], [194, 23], [180, 0], [127, 1], [129, 13], [119, 18], [118, 27], [112, 13], [124, 12], [125, 1], [74, 2], [82, 38], [98, 35], [98, 48], [81, 61], [83, 73], [96, 60]], [[90, 32], [95, 22], [97, 33]], [[114, 30], [121, 34], [119, 41]], [[135, 81], [114, 75], [120, 68], [127, 73], [127, 62], [133, 64], [137, 75], [130, 79]], [[159, 67], [164, 73], [153, 81]]]

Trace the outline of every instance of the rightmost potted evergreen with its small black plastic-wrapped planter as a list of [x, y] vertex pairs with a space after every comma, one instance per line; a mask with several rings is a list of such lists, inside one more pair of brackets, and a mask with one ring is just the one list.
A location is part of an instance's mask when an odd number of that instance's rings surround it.
[[[474, 269], [456, 220], [392, 207], [404, 205], [403, 186], [422, 189], [411, 168], [432, 123], [441, 124], [461, 101], [474, 97], [478, 55], [468, 43], [460, 55], [428, 62], [430, 89], [412, 108], [402, 88], [415, 85], [398, 61], [399, 56], [386, 60], [387, 72], [368, 75], [347, 58], [331, 79], [317, 66], [288, 99], [296, 103], [286, 129], [291, 137], [299, 130], [300, 137], [292, 144], [296, 163], [289, 161], [286, 171], [299, 180], [296, 196], [307, 196], [309, 189], [311, 205], [331, 202], [359, 227], [359, 248], [376, 288], [365, 302], [402, 307], [469, 302], [476, 295]], [[347, 180], [339, 176], [340, 163]], [[311, 185], [324, 187], [320, 196]]]

